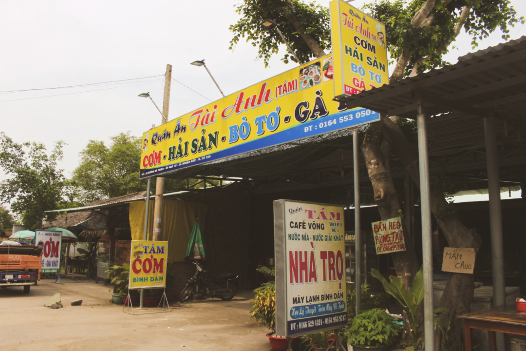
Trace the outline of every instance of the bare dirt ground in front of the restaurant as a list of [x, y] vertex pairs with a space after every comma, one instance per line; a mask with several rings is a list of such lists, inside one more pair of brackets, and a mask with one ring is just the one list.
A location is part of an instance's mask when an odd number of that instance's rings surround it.
[[[134, 316], [109, 303], [111, 286], [64, 277], [64, 285], [54, 282], [42, 279], [28, 295], [0, 289], [0, 350], [271, 351], [268, 330], [250, 318], [249, 291], [231, 301], [198, 300], [169, 313]], [[44, 307], [55, 293], [64, 308]], [[82, 306], [70, 306], [76, 299], [83, 299]]]

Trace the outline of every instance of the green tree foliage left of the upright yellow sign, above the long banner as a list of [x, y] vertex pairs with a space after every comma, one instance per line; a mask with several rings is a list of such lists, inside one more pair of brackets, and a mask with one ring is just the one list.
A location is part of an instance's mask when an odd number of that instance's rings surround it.
[[[305, 4], [298, 0], [244, 0], [236, 7], [241, 15], [239, 21], [230, 26], [234, 37], [230, 49], [247, 37], [247, 42], [258, 47], [257, 58], [262, 58], [265, 67], [270, 56], [278, 53], [280, 44], [285, 44], [275, 29], [267, 31], [261, 25], [264, 19], [275, 20], [281, 33], [302, 62], [323, 55], [330, 49], [329, 9], [315, 3]], [[282, 61], [296, 62], [294, 56], [285, 54]]]

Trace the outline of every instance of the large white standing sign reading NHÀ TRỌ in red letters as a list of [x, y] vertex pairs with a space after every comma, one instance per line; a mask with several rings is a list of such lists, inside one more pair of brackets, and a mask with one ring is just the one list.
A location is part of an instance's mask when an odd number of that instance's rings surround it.
[[347, 325], [343, 207], [276, 200], [276, 333]]

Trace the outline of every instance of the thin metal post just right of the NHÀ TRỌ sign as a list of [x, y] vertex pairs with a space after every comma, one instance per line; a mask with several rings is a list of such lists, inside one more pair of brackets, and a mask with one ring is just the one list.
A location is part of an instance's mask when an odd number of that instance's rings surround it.
[[[355, 187], [355, 284], [356, 314], [361, 310], [361, 223], [360, 223], [360, 165], [358, 164], [358, 129], [352, 131], [352, 172]], [[366, 272], [367, 274], [367, 272]]]

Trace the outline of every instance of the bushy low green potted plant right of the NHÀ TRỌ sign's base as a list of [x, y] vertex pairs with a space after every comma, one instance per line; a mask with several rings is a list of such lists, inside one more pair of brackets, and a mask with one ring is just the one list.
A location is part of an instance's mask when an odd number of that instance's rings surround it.
[[361, 312], [346, 327], [343, 335], [353, 351], [389, 351], [398, 340], [400, 327], [385, 310], [373, 308]]

